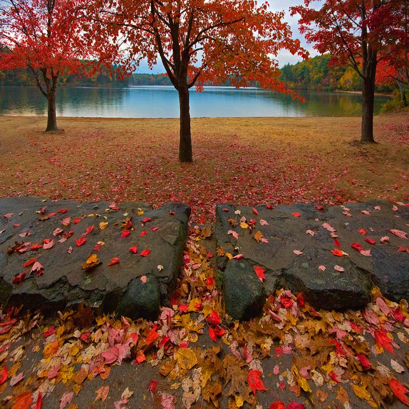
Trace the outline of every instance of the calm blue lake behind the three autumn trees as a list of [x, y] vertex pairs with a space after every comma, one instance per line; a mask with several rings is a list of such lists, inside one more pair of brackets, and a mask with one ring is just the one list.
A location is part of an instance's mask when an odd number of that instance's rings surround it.
[[[190, 93], [190, 113], [198, 117], [318, 117], [360, 115], [360, 94], [308, 92], [305, 103], [260, 88], [205, 87]], [[375, 113], [388, 97], [375, 98]], [[0, 87], [0, 115], [46, 116], [47, 100], [35, 86]], [[177, 118], [179, 100], [171, 86], [63, 87], [57, 89], [57, 116]]]

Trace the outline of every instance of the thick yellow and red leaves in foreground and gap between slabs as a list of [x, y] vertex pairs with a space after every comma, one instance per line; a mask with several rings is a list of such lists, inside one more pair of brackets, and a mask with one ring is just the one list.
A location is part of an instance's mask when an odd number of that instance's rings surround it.
[[261, 317], [220, 302], [209, 229], [155, 322], [80, 306], [44, 319], [0, 315], [0, 401], [13, 409], [406, 407], [409, 313], [377, 289], [361, 311], [315, 311], [280, 290]]

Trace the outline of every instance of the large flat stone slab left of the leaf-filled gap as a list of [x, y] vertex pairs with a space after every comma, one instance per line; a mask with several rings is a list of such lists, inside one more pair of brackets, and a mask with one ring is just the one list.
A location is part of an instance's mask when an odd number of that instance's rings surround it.
[[[183, 203], [153, 210], [133, 202], [0, 199], [0, 304], [53, 312], [84, 301], [132, 318], [154, 317], [175, 288], [189, 215]], [[44, 240], [45, 247], [48, 240], [54, 244], [43, 248]], [[41, 247], [30, 249], [35, 244]], [[93, 254], [100, 264], [83, 269]], [[40, 274], [31, 272], [34, 264], [24, 267], [34, 257]], [[112, 258], [119, 263], [108, 265]]]

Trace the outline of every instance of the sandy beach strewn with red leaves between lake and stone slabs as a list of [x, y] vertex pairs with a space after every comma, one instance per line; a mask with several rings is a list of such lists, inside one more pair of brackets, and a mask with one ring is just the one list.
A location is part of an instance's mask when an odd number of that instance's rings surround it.
[[[407, 115], [375, 117], [376, 145], [359, 139], [360, 118], [192, 120], [192, 164], [177, 162], [176, 119], [0, 118], [0, 195], [80, 201], [187, 202], [193, 222], [217, 203], [409, 198]], [[18, 143], [16, 143], [18, 141]]]

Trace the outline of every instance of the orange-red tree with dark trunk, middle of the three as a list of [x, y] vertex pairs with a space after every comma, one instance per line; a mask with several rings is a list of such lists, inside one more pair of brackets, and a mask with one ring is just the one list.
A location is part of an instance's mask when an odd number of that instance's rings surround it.
[[[179, 160], [192, 161], [189, 89], [230, 81], [289, 92], [279, 81], [279, 50], [305, 56], [291, 39], [284, 13], [253, 0], [95, 0], [89, 26], [93, 48], [115, 42], [128, 72], [143, 58], [159, 57], [179, 95]], [[118, 55], [117, 54], [117, 55]]]

